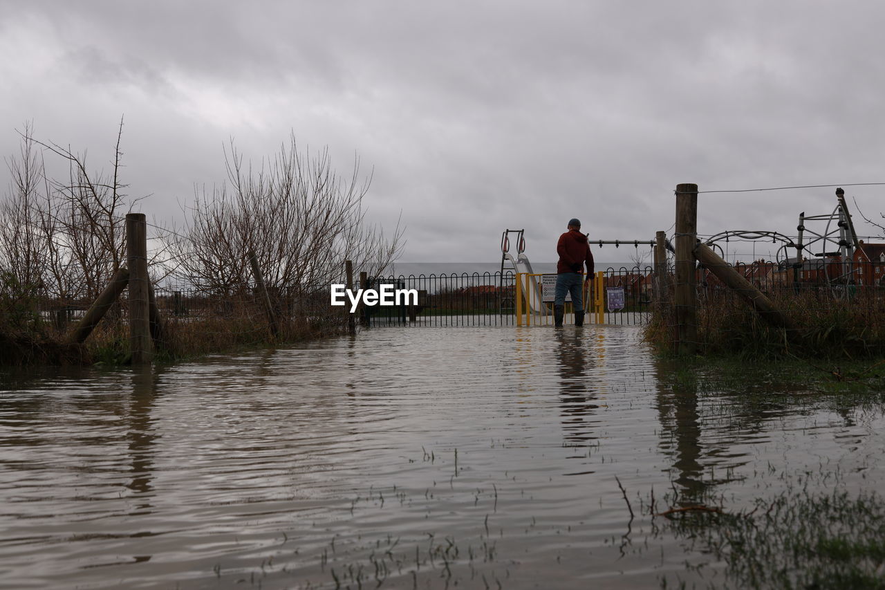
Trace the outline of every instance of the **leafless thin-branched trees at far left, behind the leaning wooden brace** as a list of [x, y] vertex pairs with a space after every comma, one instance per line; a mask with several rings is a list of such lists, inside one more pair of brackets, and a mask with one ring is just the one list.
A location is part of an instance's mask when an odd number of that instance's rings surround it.
[[[53, 299], [94, 298], [123, 263], [122, 130], [120, 119], [111, 175], [90, 173], [85, 152], [35, 139], [30, 124], [19, 132], [19, 156], [7, 160], [12, 186], [0, 205], [0, 265], [15, 282], [39, 284]], [[46, 153], [67, 165], [62, 180], [46, 173]]]

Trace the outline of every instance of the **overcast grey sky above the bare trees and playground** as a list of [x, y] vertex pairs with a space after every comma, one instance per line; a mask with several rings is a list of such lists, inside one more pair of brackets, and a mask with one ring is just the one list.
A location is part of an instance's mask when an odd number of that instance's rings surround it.
[[[402, 211], [405, 261], [500, 260], [505, 228], [555, 260], [573, 216], [591, 239], [649, 240], [672, 233], [680, 182], [885, 182], [881, 3], [0, 7], [0, 151], [33, 121], [107, 169], [125, 116], [128, 193], [159, 220], [225, 180], [230, 138], [260, 162], [290, 132], [344, 172], [359, 157], [370, 218], [392, 229]], [[880, 221], [883, 192], [846, 188]], [[834, 206], [832, 188], [701, 195], [698, 231], [792, 234]]]

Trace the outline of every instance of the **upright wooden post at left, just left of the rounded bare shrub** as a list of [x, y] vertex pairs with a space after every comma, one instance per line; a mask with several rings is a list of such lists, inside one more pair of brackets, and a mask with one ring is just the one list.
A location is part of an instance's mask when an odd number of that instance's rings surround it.
[[147, 365], [153, 357], [150, 341], [148, 233], [144, 213], [126, 215], [126, 258], [129, 267], [129, 348], [132, 364]]

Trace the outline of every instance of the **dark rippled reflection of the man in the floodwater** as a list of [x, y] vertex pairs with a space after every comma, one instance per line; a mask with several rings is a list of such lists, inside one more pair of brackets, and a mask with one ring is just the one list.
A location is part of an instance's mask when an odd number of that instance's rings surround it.
[[586, 442], [597, 438], [590, 431], [588, 416], [599, 408], [595, 355], [601, 347], [589, 348], [584, 330], [556, 330], [556, 357], [559, 373], [559, 400], [566, 441]]

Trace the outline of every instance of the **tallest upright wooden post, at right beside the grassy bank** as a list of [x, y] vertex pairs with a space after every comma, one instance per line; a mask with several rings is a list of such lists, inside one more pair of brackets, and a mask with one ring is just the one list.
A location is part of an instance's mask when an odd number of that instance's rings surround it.
[[697, 292], [695, 257], [697, 242], [697, 185], [676, 185], [676, 283], [673, 306], [676, 312], [676, 351], [697, 350]]

